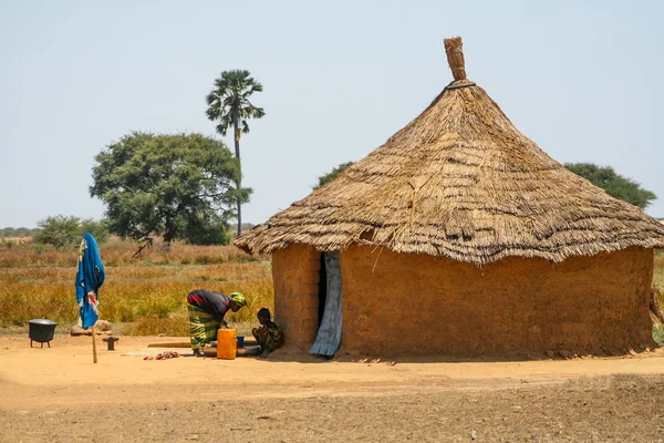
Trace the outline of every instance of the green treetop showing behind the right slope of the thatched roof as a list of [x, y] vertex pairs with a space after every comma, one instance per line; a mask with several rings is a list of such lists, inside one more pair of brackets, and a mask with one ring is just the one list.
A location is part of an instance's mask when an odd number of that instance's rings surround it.
[[645, 209], [657, 196], [644, 189], [631, 178], [618, 174], [611, 166], [598, 166], [592, 163], [566, 163], [564, 167], [601, 187], [612, 197], [620, 198], [641, 209]]

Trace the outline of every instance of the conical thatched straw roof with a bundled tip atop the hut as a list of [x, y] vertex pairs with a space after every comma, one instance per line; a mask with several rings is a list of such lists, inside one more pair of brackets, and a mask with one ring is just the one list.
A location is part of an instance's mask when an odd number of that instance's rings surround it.
[[466, 80], [459, 38], [445, 47], [455, 81], [419, 116], [236, 245], [364, 244], [478, 266], [664, 246], [664, 225], [569, 172]]

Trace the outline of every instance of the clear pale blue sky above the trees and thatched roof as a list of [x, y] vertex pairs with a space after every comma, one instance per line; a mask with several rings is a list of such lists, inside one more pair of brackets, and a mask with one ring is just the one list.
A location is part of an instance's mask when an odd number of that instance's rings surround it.
[[419, 114], [455, 35], [523, 134], [613, 166], [664, 217], [663, 17], [656, 0], [0, 0], [0, 227], [100, 218], [94, 155], [131, 131], [215, 135], [205, 95], [230, 69], [264, 89], [241, 143], [243, 222], [261, 223]]

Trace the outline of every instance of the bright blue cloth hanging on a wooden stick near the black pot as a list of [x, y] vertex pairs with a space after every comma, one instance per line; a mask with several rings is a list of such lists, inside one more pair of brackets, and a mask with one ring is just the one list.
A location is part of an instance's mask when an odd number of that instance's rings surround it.
[[100, 318], [98, 291], [104, 284], [106, 272], [96, 240], [85, 233], [79, 248], [79, 271], [76, 272], [76, 301], [81, 309], [81, 326], [85, 329], [94, 326]]

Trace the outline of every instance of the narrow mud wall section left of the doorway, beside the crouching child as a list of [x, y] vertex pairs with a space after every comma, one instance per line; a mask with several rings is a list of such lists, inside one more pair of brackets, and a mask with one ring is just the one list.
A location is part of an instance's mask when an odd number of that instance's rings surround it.
[[308, 351], [315, 340], [320, 260], [320, 251], [302, 245], [291, 245], [272, 255], [274, 318], [291, 349]]

